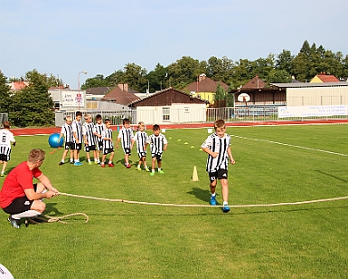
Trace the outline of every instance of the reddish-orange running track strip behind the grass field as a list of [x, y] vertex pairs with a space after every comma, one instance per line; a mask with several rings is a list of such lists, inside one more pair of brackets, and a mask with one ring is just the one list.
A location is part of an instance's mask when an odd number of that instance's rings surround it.
[[[250, 122], [227, 122], [228, 127], [244, 126], [268, 126], [268, 125], [318, 125], [318, 124], [348, 124], [348, 120], [297, 120], [297, 121], [250, 121]], [[132, 125], [135, 126], [135, 125]], [[212, 123], [187, 123], [187, 124], [161, 124], [161, 129], [183, 129], [183, 128], [212, 128]], [[118, 130], [118, 126], [111, 127]], [[152, 125], [146, 126], [147, 130], [152, 130]], [[61, 132], [61, 127], [42, 127], [42, 128], [18, 128], [11, 129], [14, 136], [31, 135], [51, 135]]]

